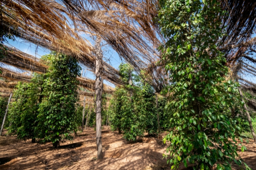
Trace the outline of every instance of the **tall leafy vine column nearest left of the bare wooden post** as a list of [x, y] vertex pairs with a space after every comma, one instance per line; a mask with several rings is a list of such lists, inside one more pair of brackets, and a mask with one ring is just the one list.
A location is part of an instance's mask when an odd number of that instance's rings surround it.
[[[59, 143], [72, 139], [76, 131], [76, 102], [80, 74], [78, 61], [63, 54], [54, 54], [42, 84], [44, 98], [39, 106], [37, 133], [43, 141]], [[57, 144], [54, 145], [54, 147]]]

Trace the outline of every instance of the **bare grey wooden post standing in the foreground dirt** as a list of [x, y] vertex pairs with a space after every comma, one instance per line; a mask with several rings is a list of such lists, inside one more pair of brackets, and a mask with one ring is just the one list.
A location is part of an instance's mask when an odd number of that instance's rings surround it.
[[95, 42], [95, 54], [96, 54], [96, 70], [95, 70], [95, 95], [96, 95], [96, 144], [98, 149], [98, 159], [103, 159], [102, 155], [102, 143], [101, 143], [101, 99], [102, 92], [101, 81], [103, 84], [103, 79], [101, 79], [102, 70], [102, 51], [100, 47], [100, 41], [97, 37]]

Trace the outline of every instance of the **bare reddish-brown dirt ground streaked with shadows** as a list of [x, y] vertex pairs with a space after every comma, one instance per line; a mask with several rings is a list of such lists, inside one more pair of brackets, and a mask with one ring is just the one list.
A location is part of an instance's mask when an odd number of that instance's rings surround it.
[[[0, 170], [165, 170], [170, 169], [162, 159], [166, 145], [161, 138], [144, 137], [137, 143], [125, 141], [123, 135], [102, 130], [104, 159], [97, 160], [93, 128], [78, 133], [74, 141], [61, 143], [58, 149], [52, 143], [40, 145], [20, 141], [15, 137], [0, 137]], [[239, 142], [238, 142], [239, 143]], [[247, 151], [238, 154], [249, 167], [256, 170], [256, 144], [245, 144]], [[240, 147], [241, 148], [241, 147]], [[241, 150], [241, 149], [240, 149]], [[6, 163], [5, 163], [6, 162]], [[180, 170], [185, 169], [180, 166]], [[234, 166], [234, 170], [237, 168]]]

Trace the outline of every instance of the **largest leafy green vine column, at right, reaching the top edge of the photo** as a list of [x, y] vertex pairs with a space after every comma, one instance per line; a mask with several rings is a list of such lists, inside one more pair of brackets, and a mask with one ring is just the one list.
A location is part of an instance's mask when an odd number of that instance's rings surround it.
[[[225, 80], [228, 68], [217, 40], [224, 35], [220, 16], [225, 12], [215, 0], [161, 0], [159, 24], [166, 44], [162, 62], [172, 83], [165, 89], [172, 94], [167, 110], [172, 113], [172, 131], [165, 157], [177, 169], [180, 162], [195, 169], [231, 170], [236, 160], [235, 135], [240, 133], [237, 84]], [[233, 142], [229, 139], [233, 139]], [[245, 147], [242, 146], [242, 150]]]

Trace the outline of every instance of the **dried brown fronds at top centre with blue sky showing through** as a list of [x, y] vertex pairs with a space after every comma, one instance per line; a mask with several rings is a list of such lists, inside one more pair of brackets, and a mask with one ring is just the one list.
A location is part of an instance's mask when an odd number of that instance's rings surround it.
[[163, 39], [154, 21], [158, 1], [63, 0], [63, 3], [80, 30], [100, 36], [138, 73], [160, 59], [156, 48]]

